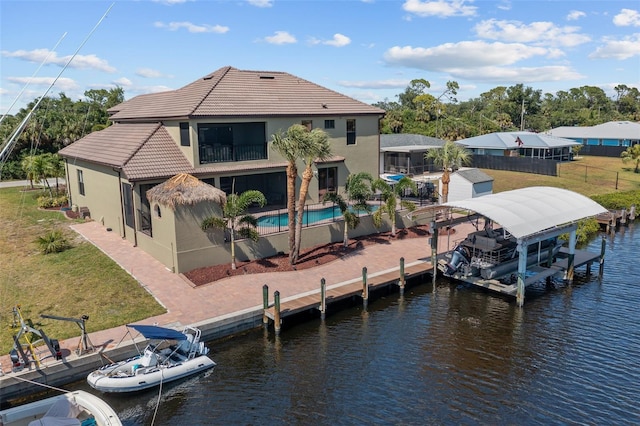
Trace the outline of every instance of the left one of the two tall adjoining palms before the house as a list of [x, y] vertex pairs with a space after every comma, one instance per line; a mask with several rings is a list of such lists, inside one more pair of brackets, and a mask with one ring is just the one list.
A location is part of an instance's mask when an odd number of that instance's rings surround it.
[[277, 151], [287, 160], [287, 216], [289, 225], [289, 260], [295, 249], [296, 242], [296, 179], [298, 178], [298, 166], [296, 161], [300, 158], [300, 152], [308, 141], [307, 128], [302, 124], [294, 124], [287, 129], [286, 134], [278, 132], [271, 136], [271, 148]]

